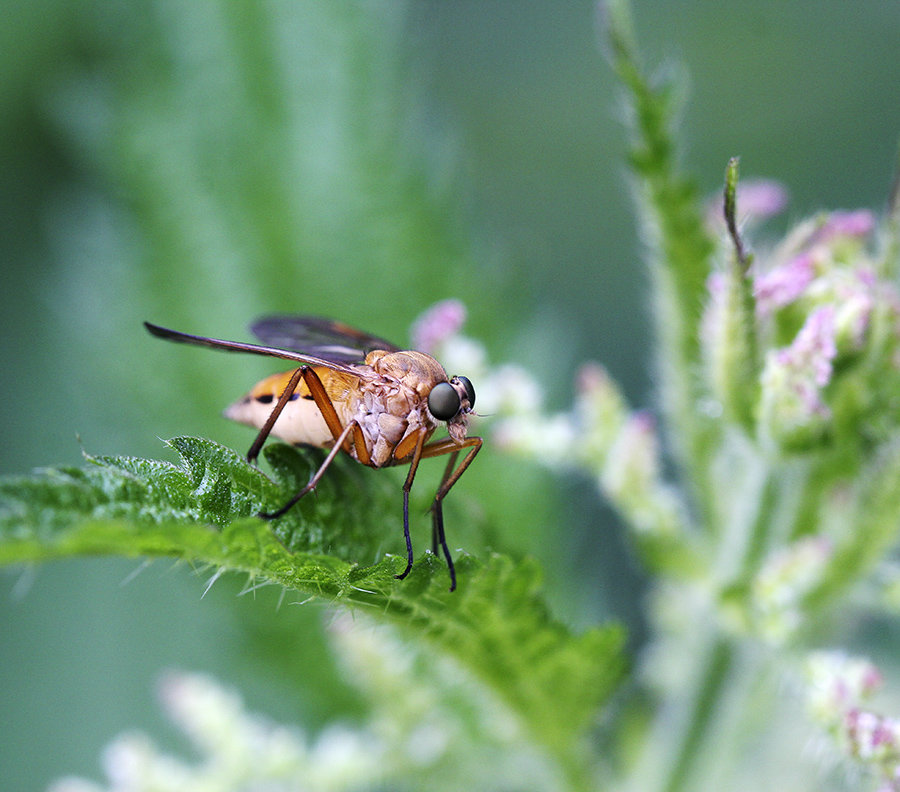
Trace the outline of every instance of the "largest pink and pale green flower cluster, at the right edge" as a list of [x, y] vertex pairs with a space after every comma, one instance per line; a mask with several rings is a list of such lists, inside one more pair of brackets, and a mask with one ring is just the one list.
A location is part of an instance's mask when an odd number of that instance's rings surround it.
[[[760, 217], [781, 206], [777, 191], [763, 187], [753, 210]], [[701, 332], [712, 395], [745, 425], [757, 422], [776, 447], [799, 451], [835, 440], [836, 427], [880, 420], [879, 406], [889, 407], [888, 394], [900, 388], [900, 296], [869, 249], [875, 227], [869, 211], [823, 214], [755, 255], [749, 318], [743, 274], [726, 266], [708, 280]], [[735, 410], [757, 389], [751, 407]]]

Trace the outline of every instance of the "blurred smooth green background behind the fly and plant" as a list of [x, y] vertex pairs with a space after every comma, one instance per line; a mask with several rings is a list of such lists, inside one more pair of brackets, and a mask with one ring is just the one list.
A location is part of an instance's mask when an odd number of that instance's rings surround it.
[[[647, 60], [684, 73], [702, 191], [739, 154], [745, 177], [787, 185], [789, 217], [883, 206], [900, 5], [635, 14]], [[0, 471], [80, 464], [78, 437], [153, 457], [176, 434], [249, 445], [219, 412], [272, 366], [163, 344], [143, 319], [245, 338], [260, 314], [313, 312], [402, 342], [452, 296], [551, 407], [587, 359], [652, 405], [621, 102], [597, 42], [589, 2], [6, 0]], [[537, 555], [564, 620], [624, 619], [640, 640], [644, 584], [590, 482], [488, 448], [456, 500], [452, 545]], [[166, 668], [312, 729], [361, 714], [316, 606], [238, 597], [233, 576], [201, 598], [208, 575], [118, 559], [0, 575], [4, 789], [96, 776], [124, 729], [164, 735]]]

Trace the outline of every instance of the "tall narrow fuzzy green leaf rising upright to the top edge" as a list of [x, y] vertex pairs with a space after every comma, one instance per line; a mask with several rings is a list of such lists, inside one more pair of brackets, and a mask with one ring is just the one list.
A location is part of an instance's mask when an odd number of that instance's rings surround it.
[[700, 320], [714, 243], [697, 190], [678, 169], [672, 135], [674, 83], [654, 84], [644, 73], [628, 3], [607, 0], [605, 9], [610, 61], [628, 103], [629, 161], [653, 286], [662, 407], [698, 505], [711, 510], [713, 485], [705, 460], [717, 428], [700, 409], [706, 394], [696, 374], [701, 370]]

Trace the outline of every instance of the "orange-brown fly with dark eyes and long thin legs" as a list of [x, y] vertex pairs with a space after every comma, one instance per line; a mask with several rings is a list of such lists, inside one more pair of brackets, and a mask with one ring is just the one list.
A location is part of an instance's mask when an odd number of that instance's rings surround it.
[[[467, 377], [448, 377], [440, 363], [424, 352], [403, 350], [389, 341], [330, 319], [311, 316], [269, 316], [251, 325], [263, 345], [181, 333], [144, 322], [153, 335], [169, 341], [249, 352], [300, 365], [258, 382], [225, 416], [259, 429], [247, 459], [255, 463], [271, 434], [296, 445], [330, 449], [303, 489], [280, 509], [261, 512], [273, 520], [313, 490], [341, 451], [372, 468], [409, 465], [403, 484], [403, 536], [406, 568], [412, 569], [409, 537], [409, 493], [419, 462], [448, 455], [447, 466], [431, 504], [432, 551], [438, 546], [450, 571], [450, 591], [456, 570], [444, 535], [442, 503], [447, 493], [481, 450], [480, 437], [468, 437], [475, 389]], [[447, 437], [429, 442], [441, 422]], [[461, 451], [465, 451], [457, 465]]]

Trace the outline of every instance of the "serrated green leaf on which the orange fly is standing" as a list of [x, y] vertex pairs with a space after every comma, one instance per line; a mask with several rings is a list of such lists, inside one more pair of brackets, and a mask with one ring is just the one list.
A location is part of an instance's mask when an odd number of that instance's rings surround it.
[[364, 608], [454, 657], [522, 718], [535, 739], [571, 764], [582, 734], [622, 676], [618, 628], [574, 635], [540, 594], [533, 561], [493, 554], [444, 563], [421, 554], [376, 558], [400, 494], [382, 477], [339, 458], [315, 495], [283, 518], [255, 515], [283, 503], [320, 457], [273, 444], [270, 478], [212, 441], [168, 443], [179, 463], [85, 455], [84, 468], [0, 480], [0, 563], [66, 556], [168, 556], [242, 571], [304, 595]]

